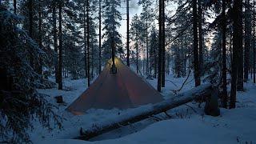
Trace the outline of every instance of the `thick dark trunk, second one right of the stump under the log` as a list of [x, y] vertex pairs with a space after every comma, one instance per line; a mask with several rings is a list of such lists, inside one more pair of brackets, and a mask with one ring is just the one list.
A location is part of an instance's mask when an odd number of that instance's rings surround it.
[[[235, 15], [234, 15], [235, 14]], [[241, 55], [242, 54], [242, 1], [234, 0], [234, 32], [233, 32], [233, 61], [232, 61], [232, 74], [231, 74], [231, 91], [230, 91], [230, 109], [235, 108], [236, 101], [236, 89], [237, 89], [237, 78], [238, 69], [241, 69]], [[239, 71], [241, 73], [241, 70]], [[241, 74], [239, 75], [238, 82], [241, 82]], [[240, 89], [241, 83], [240, 83]]]

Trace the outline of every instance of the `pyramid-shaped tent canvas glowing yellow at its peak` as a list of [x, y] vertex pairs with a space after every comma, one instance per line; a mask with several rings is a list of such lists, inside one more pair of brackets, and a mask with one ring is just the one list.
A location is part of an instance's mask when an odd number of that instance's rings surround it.
[[162, 94], [130, 70], [121, 59], [114, 58], [114, 63], [117, 67], [116, 74], [110, 73], [110, 59], [98, 78], [66, 110], [73, 114], [90, 108], [123, 110], [163, 100]]

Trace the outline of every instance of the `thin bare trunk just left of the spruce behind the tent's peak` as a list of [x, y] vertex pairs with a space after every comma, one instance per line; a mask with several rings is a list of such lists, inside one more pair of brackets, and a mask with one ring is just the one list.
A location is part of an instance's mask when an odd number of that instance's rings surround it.
[[98, 74], [102, 72], [102, 0], [99, 0], [98, 10]]

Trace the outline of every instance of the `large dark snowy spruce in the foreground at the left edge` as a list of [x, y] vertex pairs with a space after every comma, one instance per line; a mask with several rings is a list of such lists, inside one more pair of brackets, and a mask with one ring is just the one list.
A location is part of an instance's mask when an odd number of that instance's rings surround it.
[[17, 26], [22, 24], [21, 17], [2, 4], [0, 13], [0, 137], [10, 143], [30, 142], [27, 130], [33, 130], [34, 118], [49, 130], [50, 120], [61, 126], [61, 118], [54, 114], [45, 95], [38, 94], [35, 88], [47, 86], [38, 81], [41, 74], [29, 65], [31, 55], [35, 58], [45, 53]]

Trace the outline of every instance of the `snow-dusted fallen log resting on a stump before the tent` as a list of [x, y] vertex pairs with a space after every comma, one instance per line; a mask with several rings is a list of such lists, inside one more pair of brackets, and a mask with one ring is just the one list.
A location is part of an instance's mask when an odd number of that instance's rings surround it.
[[[174, 98], [167, 99], [162, 102], [150, 106], [142, 106], [142, 109], [136, 108], [134, 110], [127, 110], [124, 114], [120, 114], [118, 118], [107, 120], [106, 122], [94, 123], [91, 127], [80, 130], [80, 136], [78, 139], [89, 140], [100, 134], [104, 134], [111, 130], [120, 128], [121, 126], [128, 126], [134, 122], [139, 122], [143, 119], [149, 118], [152, 115], [166, 112], [174, 107], [181, 106], [187, 102], [191, 102], [196, 99], [206, 98], [206, 114], [212, 113], [213, 110], [218, 110], [218, 89], [214, 88], [210, 84], [204, 84], [194, 89], [188, 90], [182, 94], [178, 94]], [[214, 102], [213, 102], [214, 101]], [[216, 104], [217, 102], [217, 104]], [[215, 106], [212, 108], [211, 106]], [[217, 106], [217, 107], [216, 107]], [[209, 112], [210, 111], [210, 112]], [[218, 115], [212, 114], [212, 115]]]

